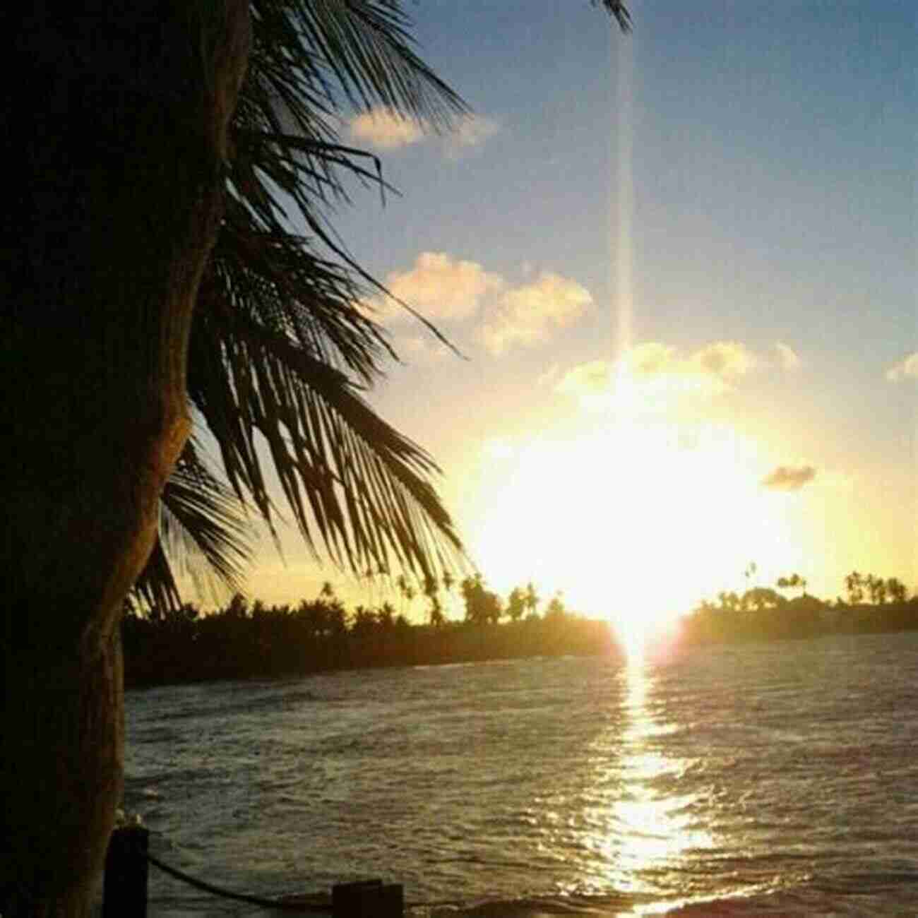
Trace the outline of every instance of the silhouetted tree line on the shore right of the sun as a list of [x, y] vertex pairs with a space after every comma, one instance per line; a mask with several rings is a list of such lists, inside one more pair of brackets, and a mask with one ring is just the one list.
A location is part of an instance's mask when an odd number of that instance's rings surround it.
[[[747, 578], [755, 571], [750, 565]], [[918, 630], [918, 596], [908, 599], [898, 577], [852, 571], [845, 577], [846, 599], [834, 602], [808, 595], [799, 574], [778, 577], [775, 586], [800, 589], [800, 596], [788, 599], [770, 587], [721, 592], [717, 602], [702, 600], [682, 620], [683, 638], [705, 644]]]

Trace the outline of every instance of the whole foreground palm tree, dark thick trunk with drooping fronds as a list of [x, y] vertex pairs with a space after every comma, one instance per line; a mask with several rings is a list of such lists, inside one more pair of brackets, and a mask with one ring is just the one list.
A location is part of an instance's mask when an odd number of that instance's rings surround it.
[[[234, 509], [275, 519], [256, 442], [316, 554], [425, 574], [460, 551], [430, 456], [364, 401], [392, 353], [356, 308], [374, 282], [327, 207], [347, 176], [381, 185], [375, 159], [339, 142], [342, 102], [439, 127], [463, 106], [414, 54], [397, 0], [7, 18], [0, 429], [17, 487], [0, 912], [69, 918], [86, 911], [118, 798], [124, 598], [140, 577], [148, 599], [178, 601], [183, 546], [238, 579]], [[225, 480], [186, 445], [193, 425]]]

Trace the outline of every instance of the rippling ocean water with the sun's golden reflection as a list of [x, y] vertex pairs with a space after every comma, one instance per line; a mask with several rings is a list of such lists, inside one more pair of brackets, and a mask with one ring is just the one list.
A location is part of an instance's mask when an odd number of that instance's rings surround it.
[[[135, 690], [127, 717], [152, 853], [231, 890], [918, 914], [918, 633]], [[151, 867], [150, 913], [265, 912]]]

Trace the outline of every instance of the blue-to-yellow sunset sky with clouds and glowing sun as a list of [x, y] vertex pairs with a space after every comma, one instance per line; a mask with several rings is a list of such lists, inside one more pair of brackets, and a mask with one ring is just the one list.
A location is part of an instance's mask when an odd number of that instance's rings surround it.
[[[400, 196], [333, 222], [465, 354], [368, 304], [402, 358], [371, 402], [490, 586], [647, 621], [750, 562], [918, 588], [912, 3], [406, 7], [473, 114], [350, 118]], [[253, 596], [379, 598], [282, 542]]]

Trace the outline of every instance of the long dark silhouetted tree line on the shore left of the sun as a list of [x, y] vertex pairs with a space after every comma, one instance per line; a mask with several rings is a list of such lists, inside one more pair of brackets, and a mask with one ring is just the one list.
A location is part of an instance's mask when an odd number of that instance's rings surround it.
[[[406, 601], [417, 595], [407, 581], [397, 586]], [[539, 615], [532, 584], [511, 591], [506, 606], [480, 575], [460, 588], [465, 620], [449, 621], [439, 586], [422, 585], [430, 603], [425, 624], [410, 623], [388, 602], [347, 610], [330, 584], [296, 606], [250, 604], [240, 594], [207, 613], [192, 603], [177, 610], [131, 606], [122, 626], [126, 681], [140, 686], [615, 650], [607, 623], [574, 614], [560, 597]]]

